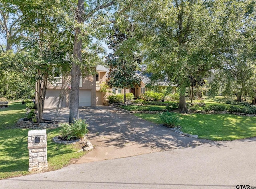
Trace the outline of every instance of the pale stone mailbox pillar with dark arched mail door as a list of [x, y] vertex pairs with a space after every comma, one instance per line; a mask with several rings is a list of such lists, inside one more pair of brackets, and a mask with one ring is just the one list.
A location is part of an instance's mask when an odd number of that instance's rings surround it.
[[46, 129], [28, 131], [28, 171], [41, 172], [48, 168]]

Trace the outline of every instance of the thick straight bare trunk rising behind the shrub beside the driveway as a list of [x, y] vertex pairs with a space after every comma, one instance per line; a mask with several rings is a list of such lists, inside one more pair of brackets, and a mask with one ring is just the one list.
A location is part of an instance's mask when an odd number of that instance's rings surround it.
[[[84, 0], [78, 0], [78, 8], [76, 10], [76, 22], [82, 24], [84, 22]], [[71, 70], [71, 93], [70, 93], [70, 110], [69, 122], [73, 123], [74, 119], [78, 119], [78, 106], [79, 106], [79, 82], [81, 76], [80, 63], [82, 61], [82, 39], [79, 39], [81, 30], [79, 26], [76, 27], [74, 50]]]

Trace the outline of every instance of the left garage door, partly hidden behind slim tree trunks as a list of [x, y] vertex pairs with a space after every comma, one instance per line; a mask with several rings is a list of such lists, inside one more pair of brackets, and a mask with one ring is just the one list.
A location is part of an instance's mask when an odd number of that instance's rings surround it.
[[[44, 107], [57, 107], [60, 90], [46, 90]], [[66, 107], [66, 98], [64, 97], [62, 107]]]

